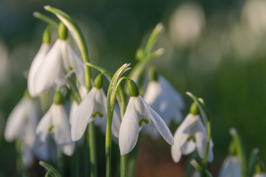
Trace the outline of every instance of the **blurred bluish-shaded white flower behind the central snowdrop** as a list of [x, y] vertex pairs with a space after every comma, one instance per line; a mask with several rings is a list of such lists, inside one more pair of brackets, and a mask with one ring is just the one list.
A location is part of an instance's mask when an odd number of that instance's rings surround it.
[[[149, 82], [143, 99], [163, 118], [167, 126], [169, 126], [171, 119], [176, 123], [181, 122], [185, 103], [181, 95], [164, 77], [160, 76], [158, 81]], [[153, 123], [144, 130], [144, 134], [149, 134], [154, 139], [159, 138], [160, 134]]]

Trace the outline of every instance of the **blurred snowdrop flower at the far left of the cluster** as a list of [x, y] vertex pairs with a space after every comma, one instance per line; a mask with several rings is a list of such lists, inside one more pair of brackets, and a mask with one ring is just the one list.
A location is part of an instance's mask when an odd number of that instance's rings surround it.
[[[20, 142], [22, 162], [26, 167], [32, 166], [34, 161], [32, 148], [40, 111], [38, 101], [32, 99], [28, 90], [26, 90], [23, 98], [7, 118], [4, 138], [7, 142], [13, 142], [14, 140]], [[39, 157], [41, 153], [36, 152], [35, 154]]]

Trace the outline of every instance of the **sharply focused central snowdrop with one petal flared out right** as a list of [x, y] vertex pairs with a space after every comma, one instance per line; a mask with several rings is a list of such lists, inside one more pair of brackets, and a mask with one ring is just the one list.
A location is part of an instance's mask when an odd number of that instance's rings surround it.
[[173, 136], [164, 120], [139, 95], [133, 80], [129, 80], [130, 100], [119, 130], [119, 148], [121, 155], [129, 153], [136, 145], [138, 133], [144, 125], [154, 123], [160, 134], [170, 145]]

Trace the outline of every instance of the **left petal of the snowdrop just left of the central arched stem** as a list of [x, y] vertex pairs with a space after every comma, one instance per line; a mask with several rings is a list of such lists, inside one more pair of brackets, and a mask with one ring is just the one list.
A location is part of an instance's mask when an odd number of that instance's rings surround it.
[[89, 94], [79, 104], [77, 110], [74, 113], [74, 120], [71, 127], [71, 138], [73, 141], [77, 141], [82, 137], [87, 124], [93, 120], [91, 118], [91, 115], [93, 110], [95, 92], [96, 88], [91, 89]]

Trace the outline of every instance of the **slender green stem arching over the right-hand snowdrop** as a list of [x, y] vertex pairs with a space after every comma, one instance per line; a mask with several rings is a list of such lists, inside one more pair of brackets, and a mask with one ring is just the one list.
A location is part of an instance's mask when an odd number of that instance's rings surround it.
[[207, 162], [208, 162], [210, 138], [211, 138], [210, 116], [209, 116], [209, 112], [206, 109], [206, 107], [203, 103], [203, 100], [201, 98], [197, 98], [191, 92], [186, 92], [186, 94], [189, 95], [198, 105], [199, 112], [200, 112], [200, 115], [202, 117], [202, 122], [204, 123], [205, 122], [204, 120], [206, 120], [205, 127], [207, 129], [207, 141], [206, 141], [205, 153], [204, 153], [204, 157], [202, 159], [201, 171], [200, 171], [200, 177], [205, 177], [206, 176]]

